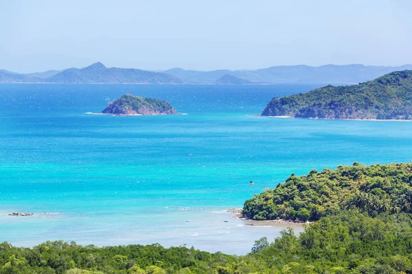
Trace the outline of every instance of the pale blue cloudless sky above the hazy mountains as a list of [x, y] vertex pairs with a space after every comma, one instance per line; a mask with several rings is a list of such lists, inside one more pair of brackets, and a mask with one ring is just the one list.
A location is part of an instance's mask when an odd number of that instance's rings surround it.
[[0, 0], [0, 69], [412, 64], [410, 0]]

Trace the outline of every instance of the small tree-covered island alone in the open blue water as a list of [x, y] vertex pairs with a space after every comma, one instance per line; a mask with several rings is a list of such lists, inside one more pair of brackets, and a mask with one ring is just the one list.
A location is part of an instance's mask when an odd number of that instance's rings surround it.
[[176, 110], [172, 108], [168, 101], [123, 95], [119, 99], [108, 103], [107, 108], [102, 113], [115, 116], [161, 115], [176, 114]]

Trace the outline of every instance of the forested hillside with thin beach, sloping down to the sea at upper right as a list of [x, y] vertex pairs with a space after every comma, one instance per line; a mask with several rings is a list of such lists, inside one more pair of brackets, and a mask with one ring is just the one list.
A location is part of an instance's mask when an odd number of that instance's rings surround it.
[[412, 119], [412, 71], [395, 71], [354, 86], [325, 86], [273, 98], [263, 116], [311, 119]]

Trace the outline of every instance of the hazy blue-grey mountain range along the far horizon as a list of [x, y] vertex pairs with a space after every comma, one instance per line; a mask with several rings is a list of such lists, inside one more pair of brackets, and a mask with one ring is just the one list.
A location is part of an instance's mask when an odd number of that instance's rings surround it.
[[83, 69], [14, 73], [0, 70], [0, 83], [106, 83], [106, 84], [271, 84], [271, 83], [359, 83], [393, 71], [412, 69], [403, 66], [363, 66], [361, 64], [325, 66], [272, 66], [258, 70], [143, 71], [107, 68], [97, 62]]

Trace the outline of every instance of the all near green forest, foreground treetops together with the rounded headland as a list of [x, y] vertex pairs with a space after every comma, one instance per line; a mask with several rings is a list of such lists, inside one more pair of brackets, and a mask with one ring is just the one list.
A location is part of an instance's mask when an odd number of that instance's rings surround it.
[[0, 274], [412, 273], [411, 185], [412, 164], [313, 170], [245, 202], [244, 213], [254, 219], [316, 220], [299, 235], [285, 229], [257, 240], [246, 256], [158, 244], [3, 242]]

